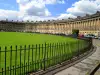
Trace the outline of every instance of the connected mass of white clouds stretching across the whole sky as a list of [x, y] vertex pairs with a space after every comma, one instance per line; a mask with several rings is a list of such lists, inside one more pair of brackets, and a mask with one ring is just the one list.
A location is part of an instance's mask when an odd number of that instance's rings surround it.
[[[16, 0], [19, 5], [19, 11], [0, 9], [0, 19], [9, 20], [30, 20], [40, 21], [49, 19], [67, 19], [76, 16], [84, 16], [85, 14], [94, 14], [100, 11], [100, 0], [79, 0], [66, 9], [66, 13], [61, 13], [57, 17], [52, 16], [52, 12], [48, 10], [46, 5], [64, 4], [65, 0]], [[59, 10], [58, 10], [59, 11]]]

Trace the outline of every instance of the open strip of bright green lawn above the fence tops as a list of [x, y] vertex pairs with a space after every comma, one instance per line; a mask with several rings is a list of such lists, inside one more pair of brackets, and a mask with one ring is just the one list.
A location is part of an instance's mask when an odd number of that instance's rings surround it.
[[0, 32], [0, 46], [15, 45], [32, 45], [43, 43], [55, 43], [65, 41], [76, 41], [72, 38], [62, 36], [35, 34], [35, 33], [19, 33], [19, 32]]

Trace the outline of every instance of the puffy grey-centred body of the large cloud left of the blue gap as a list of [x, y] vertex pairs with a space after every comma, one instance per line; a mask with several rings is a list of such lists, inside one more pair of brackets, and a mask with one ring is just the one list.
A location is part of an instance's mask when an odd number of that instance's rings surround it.
[[[33, 0], [31, 2], [28, 2], [28, 0], [18, 0], [19, 3], [19, 10], [24, 15], [29, 16], [50, 16], [51, 13], [48, 11], [48, 9], [45, 7], [44, 3], [39, 3], [36, 0]], [[27, 2], [27, 3], [26, 3]]]

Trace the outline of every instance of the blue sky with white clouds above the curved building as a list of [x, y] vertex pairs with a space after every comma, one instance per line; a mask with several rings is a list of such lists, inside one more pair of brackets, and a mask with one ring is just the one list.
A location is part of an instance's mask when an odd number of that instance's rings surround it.
[[100, 11], [100, 0], [0, 0], [0, 20], [43, 21]]

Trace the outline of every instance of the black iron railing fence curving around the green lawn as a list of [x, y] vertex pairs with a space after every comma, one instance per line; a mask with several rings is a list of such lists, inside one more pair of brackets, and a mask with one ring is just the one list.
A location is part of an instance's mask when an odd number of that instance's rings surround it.
[[78, 57], [89, 51], [92, 40], [0, 47], [0, 75], [27, 75]]

